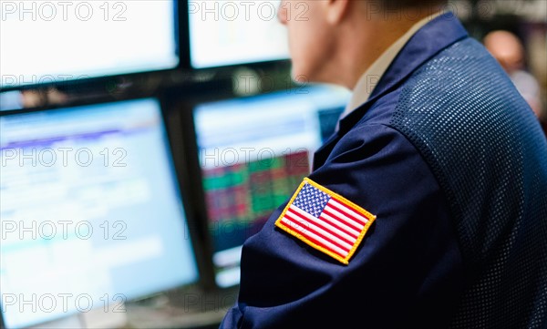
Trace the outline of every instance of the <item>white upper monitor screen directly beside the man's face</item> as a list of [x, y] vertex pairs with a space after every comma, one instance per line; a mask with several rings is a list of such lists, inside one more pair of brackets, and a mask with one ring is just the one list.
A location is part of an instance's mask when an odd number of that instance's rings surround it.
[[[280, 3], [280, 0], [189, 1], [191, 67], [288, 59], [287, 32], [277, 21]], [[294, 10], [304, 13], [305, 8]]]

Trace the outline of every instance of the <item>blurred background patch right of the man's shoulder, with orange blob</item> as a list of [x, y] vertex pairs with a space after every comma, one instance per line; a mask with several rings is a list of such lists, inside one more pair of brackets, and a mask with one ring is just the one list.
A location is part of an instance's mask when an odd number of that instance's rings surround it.
[[547, 3], [479, 0], [451, 4], [471, 36], [487, 46], [536, 115], [546, 120]]

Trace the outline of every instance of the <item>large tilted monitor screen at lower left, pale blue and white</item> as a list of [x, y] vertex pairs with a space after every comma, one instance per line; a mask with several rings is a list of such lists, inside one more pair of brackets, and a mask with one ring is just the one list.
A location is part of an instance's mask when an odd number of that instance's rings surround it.
[[5, 328], [199, 286], [166, 130], [156, 98], [0, 112]]

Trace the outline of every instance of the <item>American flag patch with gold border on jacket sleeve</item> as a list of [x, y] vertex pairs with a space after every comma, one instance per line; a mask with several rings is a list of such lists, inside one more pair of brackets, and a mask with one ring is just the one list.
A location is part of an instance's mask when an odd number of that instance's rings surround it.
[[275, 226], [345, 264], [376, 216], [304, 179]]

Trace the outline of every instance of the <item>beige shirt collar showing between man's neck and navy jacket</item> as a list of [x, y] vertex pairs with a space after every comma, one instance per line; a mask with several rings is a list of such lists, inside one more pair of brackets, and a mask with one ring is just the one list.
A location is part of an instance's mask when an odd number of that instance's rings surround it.
[[370, 94], [372, 94], [372, 91], [374, 90], [374, 87], [377, 86], [380, 78], [386, 73], [387, 67], [391, 65], [391, 62], [393, 62], [395, 57], [397, 57], [397, 54], [408, 43], [408, 40], [410, 40], [410, 38], [414, 36], [420, 28], [428, 24], [429, 21], [442, 14], [442, 12], [439, 12], [429, 15], [428, 17], [420, 20], [414, 26], [410, 27], [404, 36], [398, 38], [393, 45], [389, 46], [387, 50], [380, 57], [378, 57], [370, 67], [368, 67], [365, 74], [363, 74], [363, 76], [361, 76], [357, 81], [356, 87], [353, 90], [352, 98], [340, 118], [346, 117], [348, 114], [353, 112], [354, 109], [358, 108], [364, 104], [366, 100], [368, 100]]

